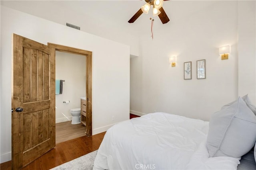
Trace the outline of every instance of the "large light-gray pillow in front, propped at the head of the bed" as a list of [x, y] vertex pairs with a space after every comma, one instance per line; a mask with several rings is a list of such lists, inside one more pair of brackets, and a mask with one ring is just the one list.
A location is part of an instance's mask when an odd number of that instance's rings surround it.
[[210, 119], [207, 149], [210, 157], [239, 158], [256, 142], [256, 115], [242, 98], [214, 113]]

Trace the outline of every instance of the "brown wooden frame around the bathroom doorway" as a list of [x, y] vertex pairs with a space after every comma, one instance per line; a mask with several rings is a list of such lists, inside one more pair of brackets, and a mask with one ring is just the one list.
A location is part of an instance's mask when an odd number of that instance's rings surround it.
[[55, 51], [84, 55], [86, 57], [86, 135], [92, 135], [92, 51], [76, 49], [63, 45], [48, 43], [50, 54], [54, 55]]

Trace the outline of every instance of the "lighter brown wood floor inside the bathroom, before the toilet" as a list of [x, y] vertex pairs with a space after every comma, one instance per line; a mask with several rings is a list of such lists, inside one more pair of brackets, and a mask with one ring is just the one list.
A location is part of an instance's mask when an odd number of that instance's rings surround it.
[[56, 144], [86, 135], [82, 124], [71, 124], [71, 121], [56, 123]]

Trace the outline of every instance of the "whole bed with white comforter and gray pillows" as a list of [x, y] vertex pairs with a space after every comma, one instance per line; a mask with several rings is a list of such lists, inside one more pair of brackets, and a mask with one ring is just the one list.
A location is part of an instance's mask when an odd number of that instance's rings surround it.
[[[214, 113], [215, 117], [211, 118], [210, 123], [162, 112], [150, 113], [118, 123], [106, 132], [94, 160], [94, 170], [246, 169], [249, 167], [247, 160], [252, 158], [242, 161], [244, 158], [241, 160], [241, 156], [249, 151], [252, 153], [250, 157], [254, 157], [255, 154], [252, 148], [256, 145], [256, 107], [254, 106], [254, 113], [244, 104], [247, 104], [246, 101], [238, 98], [237, 101], [223, 106], [219, 112]], [[249, 113], [248, 117], [240, 117], [238, 113], [241, 110], [240, 107], [243, 109], [243, 114]], [[218, 118], [219, 115], [223, 117], [223, 112], [225, 114], [234, 112], [234, 109], [236, 111], [233, 113], [232, 121], [223, 123]], [[230, 115], [232, 114], [228, 114]], [[237, 129], [230, 129], [233, 126], [244, 126], [240, 122], [241, 119], [246, 119], [250, 128], [244, 129], [250, 131], [246, 137], [251, 136], [244, 141], [239, 141], [236, 135], [236, 140], [228, 135], [234, 133], [234, 130], [237, 131]], [[247, 119], [250, 119], [249, 123]], [[227, 128], [223, 127], [223, 124], [227, 124]], [[216, 136], [216, 131], [219, 136]], [[244, 134], [243, 131], [242, 133]], [[221, 138], [221, 143], [216, 144], [218, 138]], [[212, 139], [214, 140], [211, 141]], [[228, 142], [229, 146], [226, 146]], [[245, 146], [242, 146], [242, 149], [240, 146], [238, 150], [234, 149], [233, 143], [236, 146], [236, 143], [241, 144], [241, 142]], [[214, 145], [218, 147], [215, 150]], [[231, 148], [228, 149], [230, 146]], [[240, 160], [246, 165], [238, 166]], [[255, 160], [250, 163], [250, 168], [256, 167]]]

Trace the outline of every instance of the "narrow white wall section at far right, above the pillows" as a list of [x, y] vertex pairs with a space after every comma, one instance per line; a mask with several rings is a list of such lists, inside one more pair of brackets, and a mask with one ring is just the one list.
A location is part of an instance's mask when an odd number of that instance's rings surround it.
[[238, 1], [238, 94], [256, 104], [256, 2]]

